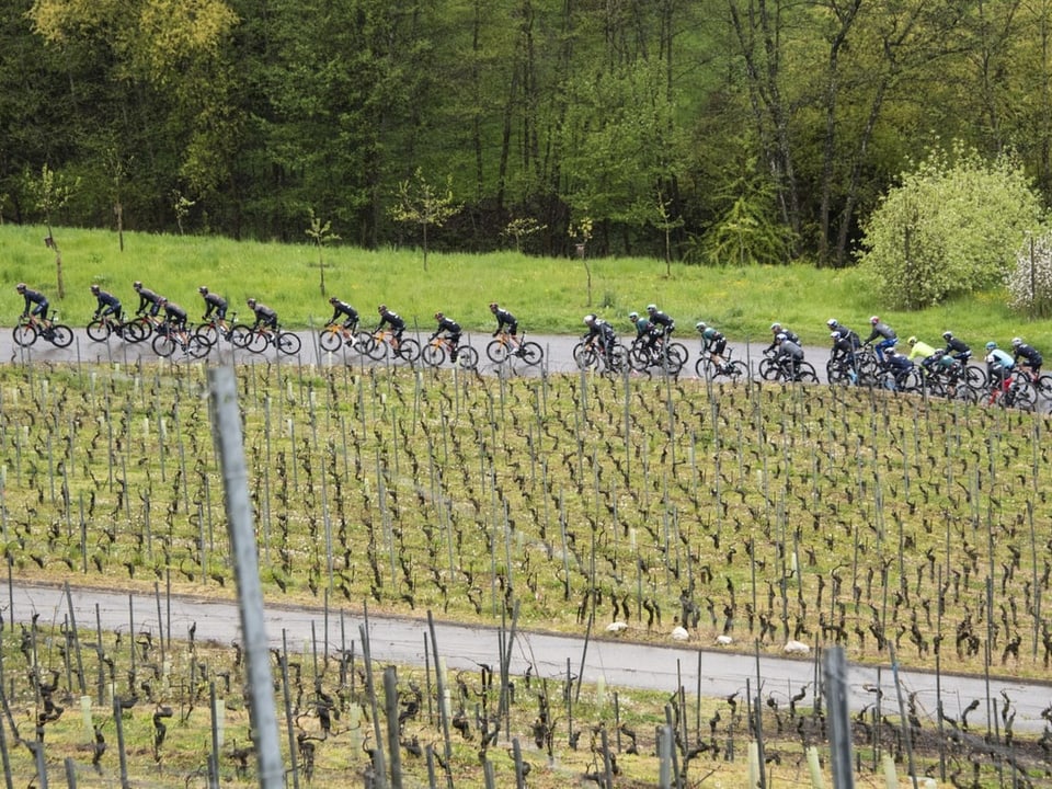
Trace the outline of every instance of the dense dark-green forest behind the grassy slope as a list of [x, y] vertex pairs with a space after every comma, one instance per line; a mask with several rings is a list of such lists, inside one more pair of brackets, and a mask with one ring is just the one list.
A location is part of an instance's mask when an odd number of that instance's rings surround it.
[[846, 265], [933, 146], [1052, 197], [1050, 42], [1049, 0], [7, 0], [0, 217]]

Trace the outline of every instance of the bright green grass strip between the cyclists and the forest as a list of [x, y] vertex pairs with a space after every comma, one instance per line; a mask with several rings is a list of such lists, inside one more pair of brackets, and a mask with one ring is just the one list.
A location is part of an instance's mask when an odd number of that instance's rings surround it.
[[[16, 282], [55, 293], [55, 262], [44, 247], [45, 235], [42, 227], [0, 227], [4, 324], [12, 324], [22, 307], [13, 289]], [[705, 320], [736, 340], [766, 338], [769, 324], [778, 320], [807, 342], [825, 344], [828, 318], [864, 332], [869, 317], [879, 313], [903, 338], [916, 334], [934, 343], [950, 329], [976, 346], [988, 339], [1005, 344], [1021, 334], [1038, 347], [1052, 348], [1052, 321], [1030, 322], [1013, 313], [1003, 290], [917, 312], [885, 311], [855, 270], [673, 265], [666, 276], [664, 264], [655, 260], [593, 260], [590, 304], [584, 265], [578, 260], [515, 252], [433, 253], [425, 272], [415, 250], [333, 247], [322, 252], [323, 296], [318, 250], [306, 242], [125, 233], [122, 252], [116, 235], [106, 230], [58, 228], [55, 238], [62, 251], [67, 288], [66, 299], [56, 306], [73, 325], [87, 322], [94, 309], [91, 283], [112, 289], [134, 307], [132, 283], [142, 279], [186, 307], [192, 317], [202, 307], [196, 288], [206, 284], [242, 313], [250, 296], [271, 305], [287, 328], [323, 321], [330, 315], [329, 295], [355, 305], [366, 323], [385, 302], [425, 328], [433, 323], [433, 313], [443, 310], [470, 330], [493, 325], [488, 305], [495, 300], [519, 318], [525, 331], [547, 333], [581, 331], [581, 318], [590, 311], [628, 331], [627, 313], [656, 302], [678, 320], [682, 333]]]

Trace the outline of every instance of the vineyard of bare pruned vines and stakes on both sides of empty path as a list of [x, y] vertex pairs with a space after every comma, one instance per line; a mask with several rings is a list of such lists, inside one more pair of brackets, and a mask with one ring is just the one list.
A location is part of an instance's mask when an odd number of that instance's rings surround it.
[[[616, 622], [621, 638], [652, 641], [666, 641], [681, 627], [695, 643], [723, 637], [744, 651], [780, 652], [794, 640], [812, 648], [839, 644], [854, 661], [887, 661], [894, 649], [910, 666], [1047, 675], [1052, 504], [1044, 491], [1043, 416], [854, 388], [588, 374], [508, 379], [258, 364], [240, 366], [237, 376], [262, 580], [272, 599], [332, 601], [355, 609], [367, 604], [370, 611], [432, 611], [465, 621], [514, 619], [518, 628], [582, 634]], [[12, 575], [230, 596], [206, 389], [202, 365], [0, 369], [0, 527]], [[32, 668], [56, 665], [54, 655], [37, 662], [30, 652], [38, 649], [35, 632], [8, 638], [4, 659], [9, 675], [31, 677], [22, 702], [43, 709], [42, 688], [70, 671], [69, 650], [62, 651], [66, 665], [49, 678]], [[90, 638], [100, 666], [106, 665], [110, 651], [100, 644], [113, 637]], [[111, 643], [113, 652], [135, 655], [136, 648]], [[21, 655], [10, 653], [15, 648]], [[146, 727], [156, 707], [182, 714], [172, 694], [180, 705], [207, 710], [204, 678], [218, 682], [225, 695], [233, 677], [230, 709], [243, 710], [237, 655], [201, 660], [191, 656], [199, 645], [173, 649], [184, 655], [178, 694], [164, 679], [164, 661], [142, 647], [138, 670], [134, 656], [130, 670], [106, 670], [114, 685], [100, 686], [95, 704], [106, 693], [149, 702], [150, 713], [134, 718]], [[12, 668], [20, 660], [25, 663]], [[187, 668], [195, 662], [215, 664]], [[149, 696], [141, 689], [147, 664], [153, 664]], [[325, 714], [351, 714], [352, 677], [374, 672], [352, 666], [343, 652], [322, 655], [321, 664], [316, 656], [309, 672], [300, 665], [302, 674], [283, 683], [298, 694], [296, 710], [310, 711], [289, 730], [302, 733], [320, 765], [342, 758], [346, 767], [346, 752], [362, 755], [362, 742], [341, 746], [338, 757], [332, 743], [315, 739], [328, 736], [319, 729]], [[289, 660], [277, 665], [287, 670]], [[556, 756], [549, 734], [558, 731], [567, 741], [583, 731], [592, 747], [574, 741], [578, 762], [567, 754], [559, 759], [598, 781], [614, 775], [604, 757], [629, 746], [620, 736], [625, 728], [637, 730], [640, 755], [653, 752], [654, 725], [668, 710], [666, 696], [651, 699], [650, 718], [638, 707], [636, 719], [614, 718], [616, 706], [599, 702], [591, 689], [574, 730], [563, 708], [563, 678], [534, 677], [533, 688], [528, 677], [518, 678], [514, 702], [506, 698], [510, 679], [503, 679], [494, 684], [482, 672], [458, 679], [464, 686], [454, 690], [453, 709], [468, 716], [462, 722], [470, 719], [476, 737], [467, 761], [481, 773], [465, 778], [472, 786], [481, 785], [490, 761], [485, 745], [478, 754], [488, 727], [514, 727], [530, 743], [531, 757], [548, 751], [548, 764]], [[430, 674], [399, 677], [396, 707], [422, 710], [431, 704], [431, 683]], [[427, 693], [413, 696], [411, 686]], [[65, 687], [71, 691], [73, 679]], [[11, 693], [18, 696], [13, 685]], [[745, 699], [706, 701], [702, 712], [700, 699], [695, 710], [682, 689], [668, 693], [676, 696], [668, 722], [683, 755], [712, 763], [691, 765], [690, 785], [728, 755], [729, 739], [741, 740], [732, 747], [743, 757], [752, 725]], [[369, 710], [377, 696], [379, 681], [376, 693], [361, 698], [366, 717], [375, 717]], [[768, 706], [765, 728], [796, 743], [792, 758], [800, 759], [801, 742], [824, 742], [820, 705], [811, 694], [794, 700], [791, 711], [782, 701]], [[319, 713], [319, 705], [329, 712]], [[998, 741], [1004, 745], [1007, 737], [1010, 746], [1010, 699], [1003, 705]], [[924, 718], [912, 700], [911, 707], [913, 718]], [[389, 707], [388, 717], [393, 712]], [[412, 728], [424, 725], [424, 716], [411, 718], [409, 752], [423, 752], [422, 744], [438, 736], [433, 727], [426, 734]], [[860, 720], [868, 733], [856, 730], [874, 767], [880, 742], [902, 756], [894, 733], [902, 729], [881, 735], [884, 720]], [[949, 712], [928, 710], [916, 725], [930, 734], [948, 720]], [[330, 725], [351, 736], [344, 722]], [[617, 748], [607, 741], [615, 733]], [[243, 731], [228, 737], [248, 740]], [[950, 773], [967, 775], [964, 785], [973, 778], [970, 763], [997, 762], [983, 750], [988, 745], [968, 737], [939, 743], [929, 743], [929, 754], [944, 748], [944, 765], [949, 759]], [[496, 748], [505, 761], [507, 744], [502, 740]], [[433, 765], [441, 742], [436, 748], [421, 763]], [[176, 758], [174, 745], [162, 750], [173, 755], [140, 756]], [[199, 762], [209, 745], [190, 750], [185, 758]], [[1034, 743], [1030, 750], [1027, 758], [1048, 764]], [[997, 762], [1002, 780], [1031, 780], [1029, 763], [1015, 764], [1007, 753]], [[616, 761], [625, 771], [615, 782], [632, 786], [626, 782], [632, 759]], [[652, 784], [653, 753], [639, 762], [639, 785]], [[181, 775], [191, 769], [184, 764]], [[434, 769], [442, 775], [442, 767]], [[511, 780], [521, 778], [521, 769], [510, 769], [518, 774]], [[805, 765], [794, 769], [805, 780]], [[986, 769], [974, 768], [976, 781], [979, 771], [986, 780]], [[732, 773], [743, 774], [742, 765]], [[207, 780], [207, 766], [202, 775]], [[544, 786], [536, 774], [529, 785]]]

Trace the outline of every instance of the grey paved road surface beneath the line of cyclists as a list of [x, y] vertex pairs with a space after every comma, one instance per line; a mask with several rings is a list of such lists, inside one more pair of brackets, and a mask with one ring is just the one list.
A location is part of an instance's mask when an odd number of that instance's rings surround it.
[[[300, 353], [297, 357], [281, 356], [281, 358], [278, 358], [276, 351], [267, 350], [263, 354], [252, 354], [247, 351], [238, 351], [235, 358], [239, 363], [279, 361], [283, 363], [294, 364], [298, 359], [302, 364], [321, 365], [342, 364], [347, 362], [348, 358], [353, 358], [353, 364], [361, 364], [362, 362], [362, 357], [357, 355], [353, 357], [345, 357], [342, 352], [330, 354], [325, 351], [322, 351], [318, 346], [316, 332], [302, 331], [297, 333], [299, 334], [302, 343]], [[423, 336], [418, 336], [422, 341], [426, 341], [427, 339], [426, 334]], [[629, 342], [631, 340], [631, 338], [627, 335], [619, 336]], [[465, 334], [465, 338], [467, 342], [479, 352], [480, 367], [482, 373], [495, 373], [496, 365], [490, 362], [485, 356], [485, 345], [490, 342], [490, 334]], [[578, 368], [573, 362], [573, 346], [580, 341], [580, 335], [529, 334], [527, 335], [527, 339], [539, 343], [544, 348], [545, 365], [549, 371], [576, 371]], [[693, 332], [684, 333], [683, 336], [677, 338], [677, 341], [686, 345], [690, 354], [682, 375], [684, 377], [694, 377], [696, 376], [695, 363], [698, 359], [700, 342], [697, 335]], [[759, 343], [753, 344], [729, 343], [728, 347], [733, 351], [734, 358], [748, 362], [751, 369], [755, 373], [759, 361], [763, 358], [763, 350], [766, 347], [766, 338], [761, 338]], [[825, 363], [828, 361], [830, 350], [827, 347], [808, 347], [805, 348], [805, 352], [808, 362], [814, 365], [819, 377], [824, 380]], [[233, 351], [229, 344], [220, 342], [220, 347], [214, 348], [208, 358], [210, 361], [229, 358], [232, 353]], [[176, 356], [173, 358], [178, 364], [193, 362], [193, 359], [187, 359], [185, 356], [181, 357], [180, 354], [176, 354]], [[96, 343], [88, 336], [83, 329], [75, 329], [73, 343], [67, 348], [56, 348], [43, 340], [37, 340], [36, 343], [30, 348], [21, 348], [14, 344], [11, 331], [8, 329], [2, 329], [0, 330], [0, 359], [10, 362], [103, 362], [128, 365], [135, 364], [140, 359], [142, 362], [156, 362], [158, 361], [158, 356], [153, 353], [153, 350], [150, 346], [150, 341], [139, 344], [130, 344], [114, 338], [106, 343]], [[536, 374], [537, 371], [537, 368], [530, 368], [521, 363], [518, 359], [514, 358], [512, 359], [510, 367], [505, 366], [505, 371], [508, 369], [514, 374], [522, 375]]]

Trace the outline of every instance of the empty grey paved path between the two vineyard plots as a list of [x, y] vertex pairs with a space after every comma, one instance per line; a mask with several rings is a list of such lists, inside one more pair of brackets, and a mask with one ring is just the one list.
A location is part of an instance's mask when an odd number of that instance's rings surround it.
[[[136, 631], [146, 628], [155, 634], [171, 632], [174, 639], [185, 639], [191, 625], [196, 624], [198, 640], [229, 644], [238, 638], [240, 630], [237, 606], [229, 602], [186, 596], [165, 599], [162, 596], [159, 613], [158, 598], [153, 595], [129, 596], [106, 590], [77, 588], [72, 599], [81, 628], [94, 626], [98, 609], [106, 630], [127, 632], [133, 614]], [[58, 586], [16, 584], [11, 587], [8, 599], [0, 599], [0, 604], [8, 609], [5, 617], [13, 621], [27, 621], [36, 613], [42, 621], [61, 624], [68, 611], [66, 597]], [[338, 652], [344, 644], [350, 649], [352, 641], [359, 641], [358, 628], [363, 625], [364, 619], [357, 613], [341, 617], [340, 611], [330, 611], [327, 631], [325, 617], [320, 609], [274, 605], [267, 608], [267, 632], [275, 648], [281, 647], [284, 630], [288, 643], [296, 644], [297, 649], [309, 644], [313, 632], [319, 651], [321, 644], [328, 642], [330, 653]], [[426, 633], [426, 620], [369, 617], [369, 645], [374, 660], [381, 663], [423, 666]], [[498, 662], [500, 633], [494, 628], [436, 622], [436, 640], [439, 654], [453, 670], [477, 670], [480, 663], [493, 665]], [[694, 693], [699, 687], [700, 668], [704, 696], [719, 698], [740, 693], [744, 699], [746, 679], [752, 679], [755, 693], [758, 671], [765, 698], [774, 694], [785, 706], [792, 694], [807, 685], [809, 694], [801, 706], [812, 704], [811, 694], [815, 687], [813, 660], [763, 656], [757, 667], [755, 655], [701, 647], [672, 645], [672, 642], [667, 647], [645, 645], [608, 638], [592, 640], [582, 676], [585, 683], [596, 683], [602, 677], [609, 688], [642, 688], [670, 694], [682, 682], [687, 693]], [[361, 654], [361, 648], [356, 652]], [[584, 641], [581, 638], [519, 632], [512, 650], [511, 672], [522, 676], [527, 666], [533, 665], [535, 676], [558, 681], [565, 676], [568, 661], [572, 672], [578, 674], [582, 656]], [[917, 693], [922, 718], [935, 721], [935, 675], [902, 671], [900, 678], [904, 694]], [[883, 693], [884, 709], [895, 711], [894, 681], [887, 666], [879, 673], [873, 667], [851, 666], [849, 683], [853, 710], [872, 705], [879, 687]], [[942, 675], [941, 693], [946, 714], [951, 718], [959, 718], [961, 709], [973, 699], [983, 700], [969, 721], [975, 730], [985, 727], [987, 688], [983, 678]], [[1052, 685], [992, 679], [990, 697], [1000, 704], [1002, 693], [1007, 694], [1016, 710], [1016, 731], [1042, 729], [1041, 710], [1052, 704]]]

